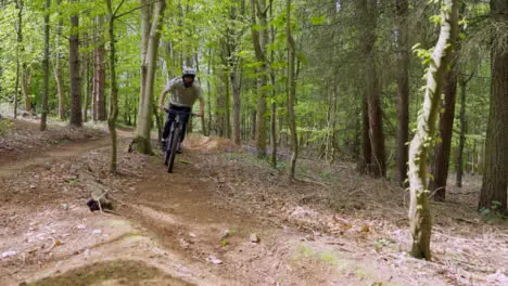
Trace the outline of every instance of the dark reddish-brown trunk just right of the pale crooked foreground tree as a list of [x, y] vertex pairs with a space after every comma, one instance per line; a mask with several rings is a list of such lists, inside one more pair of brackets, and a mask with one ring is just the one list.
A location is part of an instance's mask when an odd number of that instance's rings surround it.
[[[455, 39], [452, 40], [455, 41]], [[454, 69], [447, 73], [442, 108], [445, 112], [441, 114], [439, 128], [441, 142], [434, 147], [434, 160], [431, 168], [434, 178], [431, 177], [429, 182], [429, 191], [435, 192], [435, 202], [444, 202], [446, 198], [446, 181], [448, 179], [449, 152], [455, 119], [455, 98], [457, 94], [457, 75]]]

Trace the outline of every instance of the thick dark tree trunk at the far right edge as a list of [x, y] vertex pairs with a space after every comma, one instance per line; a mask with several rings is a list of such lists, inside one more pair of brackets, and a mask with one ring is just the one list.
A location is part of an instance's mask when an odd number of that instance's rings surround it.
[[[492, 18], [508, 22], [508, 2], [491, 1]], [[500, 42], [503, 41], [503, 42]], [[491, 52], [491, 109], [485, 141], [485, 173], [478, 208], [507, 211], [508, 187], [508, 51], [506, 37], [495, 37]]]

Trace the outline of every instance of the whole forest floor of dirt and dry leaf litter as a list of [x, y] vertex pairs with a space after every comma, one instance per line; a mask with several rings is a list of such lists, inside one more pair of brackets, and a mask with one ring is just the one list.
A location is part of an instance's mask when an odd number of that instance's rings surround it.
[[[296, 183], [228, 140], [191, 135], [167, 173], [103, 130], [17, 120], [0, 138], [0, 285], [508, 285], [508, 225], [480, 180], [432, 204], [433, 260], [407, 255], [406, 192], [350, 164], [299, 160]], [[450, 184], [452, 185], [452, 184]], [[93, 188], [115, 213], [91, 212]]]

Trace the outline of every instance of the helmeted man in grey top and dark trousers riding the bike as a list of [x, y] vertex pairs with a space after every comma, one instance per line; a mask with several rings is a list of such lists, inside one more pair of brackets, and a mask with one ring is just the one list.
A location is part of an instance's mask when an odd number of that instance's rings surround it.
[[158, 108], [164, 109], [164, 98], [168, 92], [170, 93], [169, 113], [167, 113], [167, 119], [163, 131], [163, 142], [161, 143], [164, 150], [166, 146], [165, 140], [172, 131], [172, 125], [175, 120], [176, 112], [178, 112], [180, 113], [180, 119], [183, 125], [180, 144], [178, 144], [177, 147], [177, 152], [181, 153], [181, 142], [186, 136], [187, 121], [189, 120], [192, 105], [194, 105], [196, 100], [200, 100], [200, 113], [198, 113], [196, 116], [201, 117], [204, 113], [203, 91], [201, 90], [200, 83], [195, 81], [195, 70], [183, 69], [181, 77], [174, 78], [167, 82], [166, 88], [161, 92]]

